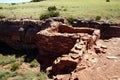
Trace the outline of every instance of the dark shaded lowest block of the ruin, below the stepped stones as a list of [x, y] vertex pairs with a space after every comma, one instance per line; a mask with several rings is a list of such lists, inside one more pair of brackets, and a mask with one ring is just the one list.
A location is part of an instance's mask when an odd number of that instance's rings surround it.
[[52, 72], [55, 74], [67, 74], [73, 71], [78, 63], [78, 59], [72, 59], [70, 56], [63, 56], [56, 59], [52, 65]]

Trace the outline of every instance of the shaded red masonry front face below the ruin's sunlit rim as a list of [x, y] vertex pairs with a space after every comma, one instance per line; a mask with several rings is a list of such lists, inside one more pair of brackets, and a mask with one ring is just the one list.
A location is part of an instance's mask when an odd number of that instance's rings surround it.
[[74, 46], [76, 39], [65, 35], [54, 35], [44, 33], [37, 36], [37, 45], [39, 50], [57, 54], [68, 53]]

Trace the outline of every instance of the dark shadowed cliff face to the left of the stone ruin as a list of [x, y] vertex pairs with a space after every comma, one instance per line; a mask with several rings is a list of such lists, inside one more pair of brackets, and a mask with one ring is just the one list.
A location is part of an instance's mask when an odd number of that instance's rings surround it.
[[39, 27], [35, 20], [0, 21], [0, 41], [17, 50], [36, 48]]

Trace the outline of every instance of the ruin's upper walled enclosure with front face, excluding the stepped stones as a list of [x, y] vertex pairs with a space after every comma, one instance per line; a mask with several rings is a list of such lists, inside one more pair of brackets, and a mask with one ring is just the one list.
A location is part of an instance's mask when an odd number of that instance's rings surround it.
[[87, 34], [87, 32], [92, 34], [94, 30], [72, 28], [64, 24], [58, 24], [57, 27], [38, 32], [36, 45], [39, 51], [43, 50], [50, 53], [65, 54], [70, 52], [76, 40], [80, 39], [82, 34]]

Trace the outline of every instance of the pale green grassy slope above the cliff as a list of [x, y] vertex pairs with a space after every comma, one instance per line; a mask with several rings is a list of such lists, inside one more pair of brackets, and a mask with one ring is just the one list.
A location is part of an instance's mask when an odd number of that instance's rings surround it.
[[45, 0], [41, 2], [0, 4], [0, 15], [7, 18], [33, 18], [47, 11], [49, 6], [55, 5], [61, 16], [95, 19], [101, 16], [102, 20], [120, 22], [120, 0]]

